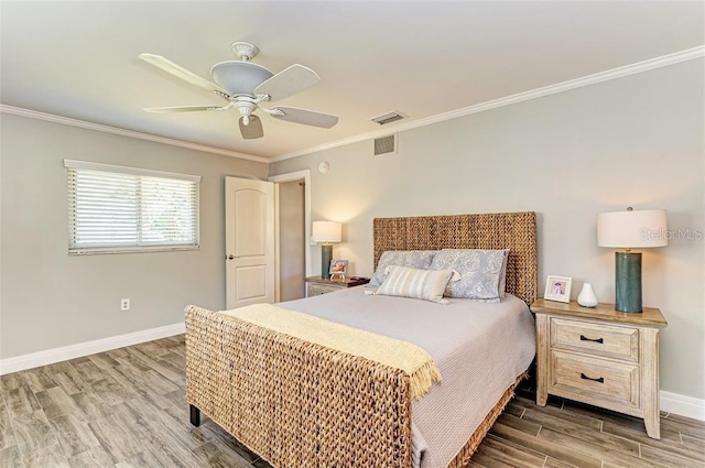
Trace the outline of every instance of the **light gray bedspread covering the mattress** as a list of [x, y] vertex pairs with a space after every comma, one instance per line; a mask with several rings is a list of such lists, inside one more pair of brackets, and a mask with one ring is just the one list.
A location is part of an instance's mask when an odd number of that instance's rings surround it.
[[411, 410], [413, 451], [421, 468], [443, 468], [453, 460], [527, 370], [536, 348], [529, 307], [511, 294], [499, 304], [449, 301], [441, 305], [365, 295], [359, 286], [280, 304], [413, 342], [433, 357], [443, 381]]

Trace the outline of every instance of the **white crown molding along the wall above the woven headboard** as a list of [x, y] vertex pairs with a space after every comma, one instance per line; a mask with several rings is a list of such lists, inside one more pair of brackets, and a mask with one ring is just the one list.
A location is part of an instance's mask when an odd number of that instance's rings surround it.
[[622, 78], [625, 76], [636, 75], [643, 72], [649, 72], [655, 68], [661, 68], [670, 65], [675, 65], [681, 62], [692, 61], [694, 58], [705, 57], [705, 45], [688, 48], [685, 51], [676, 52], [673, 54], [664, 55], [657, 58], [651, 58], [636, 64], [626, 65], [619, 68], [612, 68], [606, 72], [587, 75], [581, 78], [571, 79], [567, 81], [558, 83], [555, 85], [544, 86], [542, 88], [532, 89], [530, 91], [519, 92], [516, 95], [507, 96], [503, 98], [495, 99], [487, 102], [480, 102], [478, 105], [452, 110], [449, 112], [438, 113], [436, 116], [426, 117], [424, 119], [413, 120], [406, 123], [399, 123], [394, 127], [390, 127], [384, 130], [376, 130], [373, 132], [362, 133], [359, 135], [350, 137], [343, 140], [337, 140], [330, 143], [322, 144], [318, 146], [308, 148], [306, 150], [294, 151], [291, 153], [280, 154], [272, 157], [270, 162], [284, 161], [296, 156], [303, 156], [304, 154], [311, 154], [318, 151], [330, 150], [338, 146], [344, 146], [350, 143], [358, 143], [360, 141], [371, 140], [379, 137], [386, 137], [393, 132], [402, 132], [405, 130], [412, 130], [420, 127], [430, 126], [432, 123], [443, 122], [445, 120], [456, 119], [458, 117], [469, 116], [471, 113], [484, 112], [486, 110], [497, 109], [503, 106], [511, 106], [513, 104], [523, 102], [531, 99], [542, 98], [544, 96], [555, 95], [558, 92], [570, 91], [572, 89], [582, 88], [584, 86], [596, 85], [598, 83], [608, 81], [611, 79]]

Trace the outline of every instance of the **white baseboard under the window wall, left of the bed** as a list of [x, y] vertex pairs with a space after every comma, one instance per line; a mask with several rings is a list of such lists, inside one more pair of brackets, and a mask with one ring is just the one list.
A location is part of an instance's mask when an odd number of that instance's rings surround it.
[[76, 359], [84, 356], [95, 355], [96, 352], [109, 351], [111, 349], [122, 348], [124, 346], [138, 345], [153, 339], [166, 338], [174, 335], [183, 334], [186, 330], [184, 322], [173, 325], [166, 325], [148, 330], [134, 331], [126, 335], [118, 335], [109, 338], [97, 339], [94, 341], [79, 342], [77, 345], [64, 346], [62, 348], [47, 349], [45, 351], [32, 352], [30, 355], [18, 356], [14, 358], [0, 359], [0, 376], [6, 373], [19, 372], [21, 370], [32, 369], [40, 366], [53, 364], [55, 362]]

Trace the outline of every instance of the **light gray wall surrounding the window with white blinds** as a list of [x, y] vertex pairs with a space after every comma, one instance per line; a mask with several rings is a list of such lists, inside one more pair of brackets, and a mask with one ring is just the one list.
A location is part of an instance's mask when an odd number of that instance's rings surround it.
[[[2, 115], [0, 359], [177, 324], [225, 306], [224, 176], [267, 164]], [[203, 176], [199, 251], [68, 257], [63, 159]], [[131, 309], [120, 312], [120, 298]]]

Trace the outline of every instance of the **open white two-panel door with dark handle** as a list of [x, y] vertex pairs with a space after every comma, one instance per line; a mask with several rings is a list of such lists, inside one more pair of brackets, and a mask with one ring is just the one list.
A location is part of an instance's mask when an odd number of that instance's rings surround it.
[[225, 179], [226, 308], [274, 302], [274, 184]]

